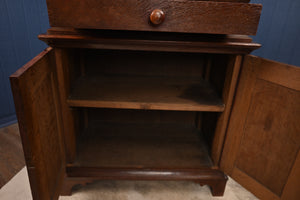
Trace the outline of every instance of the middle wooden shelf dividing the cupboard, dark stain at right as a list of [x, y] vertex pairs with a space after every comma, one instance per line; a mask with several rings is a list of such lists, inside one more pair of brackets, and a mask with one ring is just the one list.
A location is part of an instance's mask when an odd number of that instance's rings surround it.
[[70, 106], [222, 112], [224, 104], [204, 80], [182, 77], [83, 76]]

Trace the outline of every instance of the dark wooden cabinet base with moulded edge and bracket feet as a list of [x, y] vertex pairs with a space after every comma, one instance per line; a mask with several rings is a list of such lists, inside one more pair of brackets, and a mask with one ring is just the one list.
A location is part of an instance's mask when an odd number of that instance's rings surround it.
[[106, 168], [67, 168], [68, 176], [64, 180], [61, 195], [71, 195], [74, 186], [85, 186], [97, 180], [165, 180], [193, 181], [208, 185], [212, 196], [223, 196], [227, 176], [215, 169], [106, 169]]

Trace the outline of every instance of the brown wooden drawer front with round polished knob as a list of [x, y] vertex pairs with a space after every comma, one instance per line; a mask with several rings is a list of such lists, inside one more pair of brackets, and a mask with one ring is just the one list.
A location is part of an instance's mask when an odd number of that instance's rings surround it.
[[211, 34], [255, 35], [261, 12], [259, 4], [193, 0], [47, 0], [47, 4], [52, 27]]

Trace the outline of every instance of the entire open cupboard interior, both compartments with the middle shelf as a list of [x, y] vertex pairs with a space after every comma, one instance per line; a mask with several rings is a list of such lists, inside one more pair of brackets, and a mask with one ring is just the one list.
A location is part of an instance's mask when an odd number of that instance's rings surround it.
[[[63, 49], [70, 166], [206, 168], [233, 55]], [[68, 135], [75, 137], [68, 137]], [[74, 142], [76, 149], [68, 143]]]

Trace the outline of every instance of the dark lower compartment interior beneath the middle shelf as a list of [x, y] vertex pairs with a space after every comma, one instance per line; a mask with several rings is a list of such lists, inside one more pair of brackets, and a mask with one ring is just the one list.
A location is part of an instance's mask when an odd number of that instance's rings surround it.
[[212, 166], [202, 113], [83, 108], [73, 166], [206, 168]]

